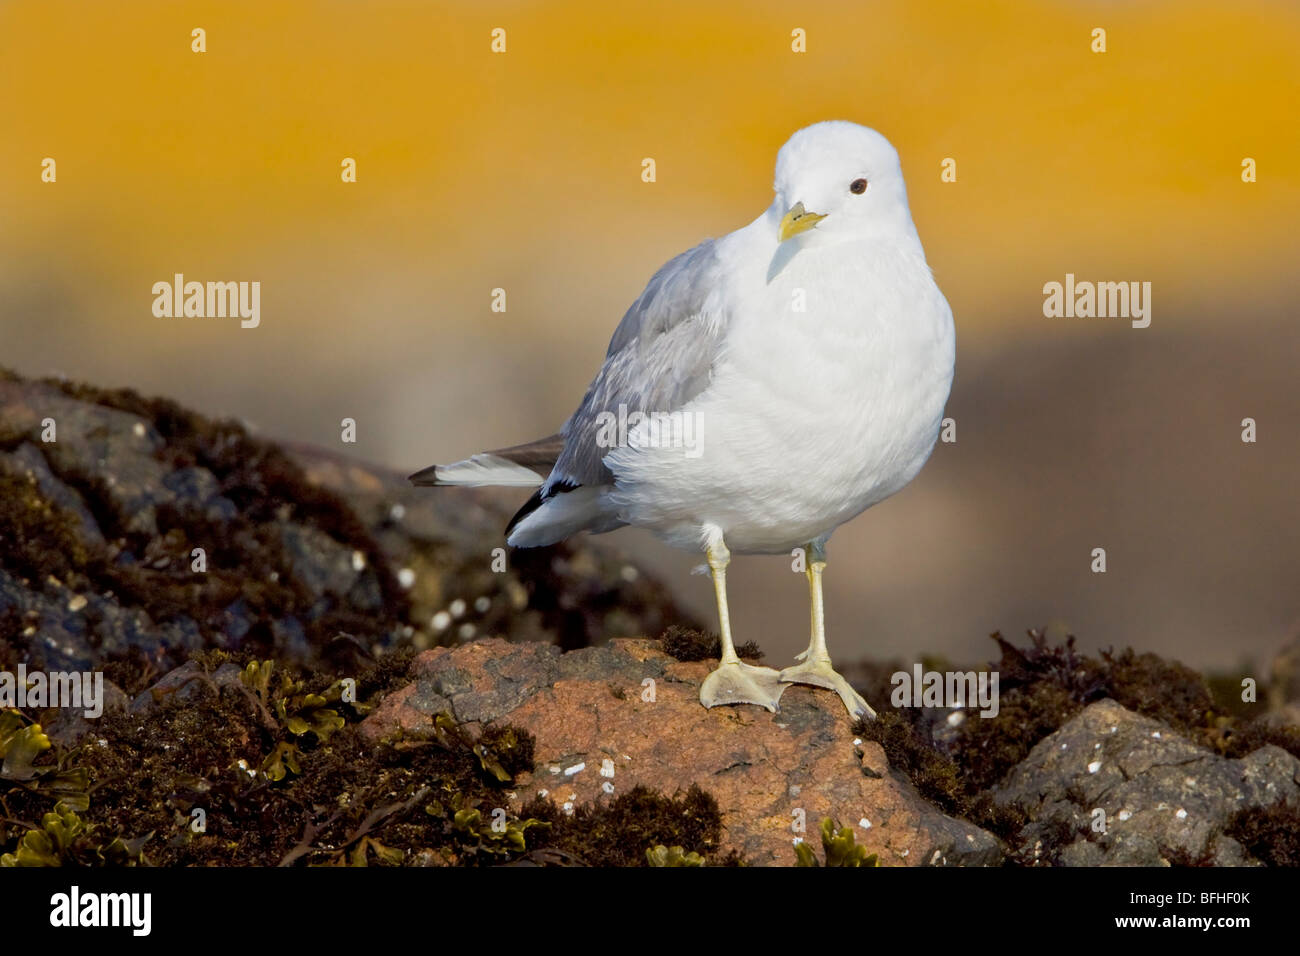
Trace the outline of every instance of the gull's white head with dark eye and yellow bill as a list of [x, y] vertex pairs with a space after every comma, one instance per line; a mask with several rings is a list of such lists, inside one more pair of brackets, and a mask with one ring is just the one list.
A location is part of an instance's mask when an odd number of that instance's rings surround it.
[[776, 238], [842, 242], [915, 235], [898, 153], [855, 122], [800, 130], [776, 156]]

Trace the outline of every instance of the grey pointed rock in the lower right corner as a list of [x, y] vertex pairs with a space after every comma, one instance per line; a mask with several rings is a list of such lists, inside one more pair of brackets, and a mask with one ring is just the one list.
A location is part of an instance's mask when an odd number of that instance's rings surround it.
[[[1239, 810], [1300, 796], [1300, 760], [1268, 745], [1227, 760], [1126, 710], [1113, 700], [1087, 706], [1034, 747], [993, 790], [997, 804], [1024, 810], [1020, 840], [1060, 843], [1071, 866], [1253, 862], [1225, 835]], [[1105, 832], [1093, 830], [1104, 812]], [[1032, 851], [1031, 851], [1032, 855]]]

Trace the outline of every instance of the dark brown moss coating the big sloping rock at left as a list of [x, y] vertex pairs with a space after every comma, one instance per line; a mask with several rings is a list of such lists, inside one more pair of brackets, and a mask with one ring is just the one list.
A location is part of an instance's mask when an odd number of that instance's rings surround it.
[[[282, 650], [273, 622], [300, 627], [307, 646], [316, 649], [330, 648], [344, 633], [359, 635], [356, 644], [363, 649], [389, 644], [408, 623], [408, 598], [377, 541], [339, 496], [311, 484], [277, 446], [251, 437], [237, 423], [209, 420], [166, 399], [55, 380], [44, 384], [150, 421], [162, 437], [156, 457], [173, 470], [207, 470], [217, 493], [235, 509], [216, 519], [196, 502], [161, 503], [156, 535], [133, 531], [131, 515], [122, 511], [104, 475], [52, 457], [51, 471], [82, 498], [107, 544], [84, 540], [77, 516], [46, 499], [34, 480], [3, 473], [0, 566], [5, 570], [30, 580], [35, 589], [55, 578], [74, 591], [112, 593], [117, 604], [142, 610], [157, 624], [188, 627], [192, 622], [209, 646], [230, 641], [229, 609], [238, 606], [250, 626], [242, 646], [263, 654]], [[30, 441], [31, 436], [20, 438]], [[364, 555], [380, 606], [363, 610], [347, 600], [313, 593], [295, 572], [283, 533], [289, 525], [311, 527]], [[195, 548], [207, 554], [202, 575], [190, 568]], [[91, 615], [87, 620], [96, 623]], [[120, 644], [100, 663], [130, 653]], [[164, 667], [182, 659], [162, 648], [157, 654], [156, 663]]]

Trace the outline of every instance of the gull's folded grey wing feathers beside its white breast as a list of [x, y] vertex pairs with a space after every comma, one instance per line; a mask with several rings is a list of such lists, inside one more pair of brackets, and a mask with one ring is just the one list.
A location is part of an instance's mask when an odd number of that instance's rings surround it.
[[[604, 364], [560, 429], [564, 449], [542, 488], [610, 484], [597, 444], [601, 412], [671, 412], [708, 385], [728, 316], [722, 308], [718, 243], [702, 242], [654, 274], [614, 330]], [[556, 489], [559, 490], [559, 489]]]

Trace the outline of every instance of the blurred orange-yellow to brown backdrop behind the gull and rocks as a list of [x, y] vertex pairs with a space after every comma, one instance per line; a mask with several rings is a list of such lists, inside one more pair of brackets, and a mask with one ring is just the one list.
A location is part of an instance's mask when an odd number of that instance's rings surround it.
[[[335, 449], [354, 418], [342, 450], [400, 471], [549, 434], [654, 269], [757, 216], [796, 129], [854, 120], [953, 306], [958, 441], [836, 533], [832, 653], [1052, 624], [1265, 661], [1300, 617], [1297, 48], [1264, 0], [10, 0], [0, 364]], [[261, 326], [155, 317], [177, 272], [260, 281]], [[1152, 282], [1150, 328], [1044, 317], [1067, 272]], [[604, 541], [712, 619], [697, 557]], [[738, 640], [806, 644], [788, 561], [729, 579]]]

